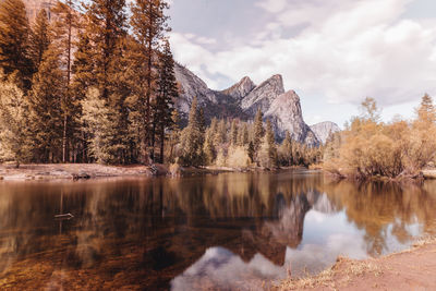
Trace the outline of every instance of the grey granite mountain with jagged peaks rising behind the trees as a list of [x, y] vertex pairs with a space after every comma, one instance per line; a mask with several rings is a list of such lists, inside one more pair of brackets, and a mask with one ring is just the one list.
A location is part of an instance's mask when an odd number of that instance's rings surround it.
[[187, 117], [193, 96], [197, 96], [209, 120], [213, 117], [253, 120], [261, 108], [264, 119], [272, 122], [277, 140], [284, 138], [286, 131], [289, 131], [298, 142], [310, 146], [320, 143], [303, 120], [300, 97], [293, 90], [284, 92], [281, 75], [274, 75], [258, 86], [245, 76], [221, 92], [209, 89], [198, 76], [180, 64], [175, 65], [175, 77], [183, 92], [177, 106], [184, 118]]

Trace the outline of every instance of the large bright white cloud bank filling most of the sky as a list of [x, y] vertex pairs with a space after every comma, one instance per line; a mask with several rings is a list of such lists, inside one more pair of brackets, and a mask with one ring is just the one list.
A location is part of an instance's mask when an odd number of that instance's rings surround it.
[[[201, 77], [251, 75], [261, 83], [281, 73], [287, 88], [302, 97], [331, 104], [356, 104], [365, 96], [383, 106], [408, 102], [423, 92], [436, 94], [436, 22], [402, 19], [410, 2], [265, 0], [256, 5], [272, 19], [255, 39], [211, 51], [202, 47], [208, 41], [173, 33], [172, 47], [177, 59]], [[292, 38], [282, 37], [282, 29], [302, 24]]]

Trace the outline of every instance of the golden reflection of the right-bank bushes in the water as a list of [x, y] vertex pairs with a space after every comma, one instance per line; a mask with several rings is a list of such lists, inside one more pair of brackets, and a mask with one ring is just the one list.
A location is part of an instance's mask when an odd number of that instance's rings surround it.
[[[326, 183], [325, 192], [339, 207], [343, 207], [350, 222], [365, 230], [365, 242], [371, 255], [388, 250], [387, 239], [392, 234], [400, 243], [412, 239], [408, 226], [420, 223], [424, 231], [434, 230], [436, 203], [434, 181], [423, 187], [414, 184], [372, 182], [355, 184], [341, 181]], [[432, 206], [433, 205], [433, 206]]]

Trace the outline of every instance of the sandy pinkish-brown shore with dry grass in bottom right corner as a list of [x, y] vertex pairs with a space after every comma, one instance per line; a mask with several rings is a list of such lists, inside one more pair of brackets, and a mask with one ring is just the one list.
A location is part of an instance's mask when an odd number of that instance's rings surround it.
[[380, 258], [338, 258], [317, 276], [287, 279], [274, 290], [436, 290], [436, 240]]

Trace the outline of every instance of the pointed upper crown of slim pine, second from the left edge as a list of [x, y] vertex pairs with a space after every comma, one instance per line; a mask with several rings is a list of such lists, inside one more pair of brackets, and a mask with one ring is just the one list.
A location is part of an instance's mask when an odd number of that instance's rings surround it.
[[50, 45], [50, 29], [47, 17], [47, 12], [41, 9], [36, 16], [35, 23], [32, 26], [29, 41], [28, 41], [28, 54], [32, 59], [35, 71], [38, 70], [39, 64], [43, 61], [44, 52]]

